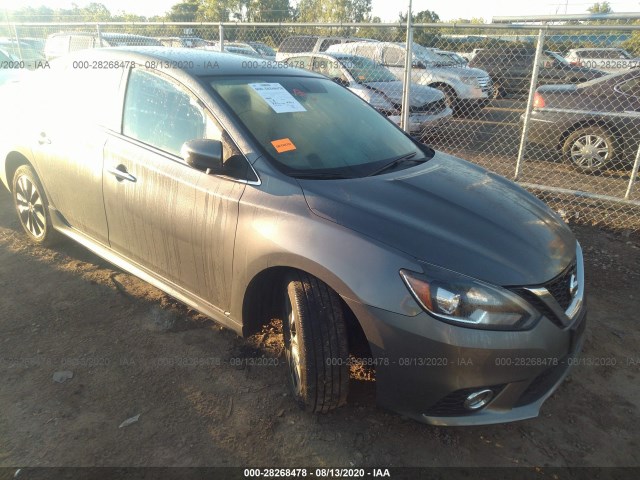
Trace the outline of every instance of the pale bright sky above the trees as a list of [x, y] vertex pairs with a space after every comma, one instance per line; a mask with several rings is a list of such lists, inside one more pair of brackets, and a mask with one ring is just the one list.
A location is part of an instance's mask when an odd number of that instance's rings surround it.
[[[91, 0], [74, 0], [79, 6], [91, 3]], [[126, 11], [147, 17], [163, 15], [171, 5], [179, 0], [94, 0], [105, 5], [112, 14]], [[51, 8], [70, 8], [72, 0], [2, 0], [0, 9], [14, 9], [20, 6], [46, 5]], [[413, 0], [413, 11], [431, 10], [436, 12], [443, 21], [481, 17], [490, 21], [493, 16], [501, 15], [552, 15], [555, 13], [586, 13], [587, 8], [595, 3], [586, 0]], [[640, 1], [610, 0], [614, 12], [640, 12]], [[406, 11], [408, 0], [372, 0], [372, 14], [383, 22], [395, 22], [398, 13]]]

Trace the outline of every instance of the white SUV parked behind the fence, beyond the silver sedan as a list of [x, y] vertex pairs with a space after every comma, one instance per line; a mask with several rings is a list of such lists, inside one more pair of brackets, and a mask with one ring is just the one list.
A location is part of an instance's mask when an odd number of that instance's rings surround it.
[[[332, 45], [327, 52], [367, 57], [387, 67], [398, 80], [404, 77], [406, 46], [394, 42], [352, 42]], [[413, 44], [412, 82], [437, 88], [444, 93], [455, 113], [482, 108], [493, 95], [491, 77], [484, 70], [462, 67], [434, 50]]]

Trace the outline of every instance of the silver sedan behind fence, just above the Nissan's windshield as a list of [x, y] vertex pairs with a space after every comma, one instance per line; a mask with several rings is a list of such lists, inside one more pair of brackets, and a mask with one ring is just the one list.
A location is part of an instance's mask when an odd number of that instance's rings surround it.
[[[402, 82], [373, 60], [348, 53], [324, 53], [289, 57], [285, 62], [329, 77], [400, 125]], [[433, 131], [451, 118], [453, 112], [447, 107], [444, 94], [439, 90], [413, 84], [410, 92], [411, 133], [422, 135]]]

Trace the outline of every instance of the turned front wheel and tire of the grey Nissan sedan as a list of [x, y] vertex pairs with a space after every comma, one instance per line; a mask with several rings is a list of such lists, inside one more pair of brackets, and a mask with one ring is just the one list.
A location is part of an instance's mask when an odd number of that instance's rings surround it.
[[340, 297], [304, 272], [284, 285], [283, 333], [293, 395], [301, 408], [326, 413], [346, 403], [349, 347]]

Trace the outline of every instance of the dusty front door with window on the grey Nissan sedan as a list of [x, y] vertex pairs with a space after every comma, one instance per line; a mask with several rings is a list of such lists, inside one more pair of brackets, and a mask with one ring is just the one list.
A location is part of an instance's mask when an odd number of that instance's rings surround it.
[[[207, 302], [229, 302], [238, 202], [246, 183], [207, 175], [180, 157], [184, 142], [228, 136], [186, 87], [132, 69], [122, 134], [105, 150], [104, 204], [111, 248]], [[244, 157], [242, 157], [244, 160]]]

